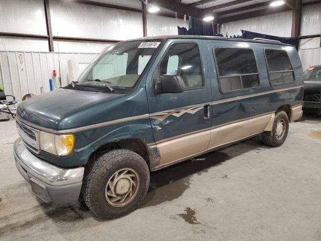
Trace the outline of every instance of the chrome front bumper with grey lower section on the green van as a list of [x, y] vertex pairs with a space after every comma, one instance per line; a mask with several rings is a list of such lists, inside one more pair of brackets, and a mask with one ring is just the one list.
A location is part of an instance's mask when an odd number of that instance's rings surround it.
[[45, 202], [71, 203], [79, 198], [84, 168], [64, 169], [32, 154], [18, 138], [14, 144], [16, 166], [31, 184], [33, 192]]

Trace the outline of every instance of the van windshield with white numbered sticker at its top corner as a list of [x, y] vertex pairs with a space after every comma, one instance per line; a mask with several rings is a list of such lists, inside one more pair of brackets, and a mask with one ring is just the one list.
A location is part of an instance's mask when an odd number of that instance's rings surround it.
[[[153, 41], [153, 42], [150, 42]], [[80, 74], [80, 85], [132, 88], [139, 79], [161, 40], [139, 40], [104, 49]]]

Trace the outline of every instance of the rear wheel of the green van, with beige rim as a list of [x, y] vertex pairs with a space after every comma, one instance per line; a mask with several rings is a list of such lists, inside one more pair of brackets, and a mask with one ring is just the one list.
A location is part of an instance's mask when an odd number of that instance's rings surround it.
[[262, 133], [262, 141], [270, 147], [281, 146], [289, 130], [289, 119], [284, 111], [275, 114], [272, 131]]

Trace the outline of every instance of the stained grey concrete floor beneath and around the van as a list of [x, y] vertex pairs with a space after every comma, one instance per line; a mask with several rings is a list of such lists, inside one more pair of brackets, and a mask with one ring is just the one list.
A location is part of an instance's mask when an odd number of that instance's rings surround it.
[[143, 205], [103, 221], [83, 203], [45, 204], [16, 170], [15, 122], [0, 123], [0, 240], [321, 240], [321, 118], [151, 174]]

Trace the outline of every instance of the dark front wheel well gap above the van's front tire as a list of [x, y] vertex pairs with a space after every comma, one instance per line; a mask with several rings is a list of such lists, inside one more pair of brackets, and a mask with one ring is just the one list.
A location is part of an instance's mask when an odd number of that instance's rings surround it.
[[95, 151], [96, 158], [114, 149], [126, 149], [141, 156], [149, 167], [149, 151], [145, 144], [138, 139], [126, 139], [118, 142], [107, 143]]

